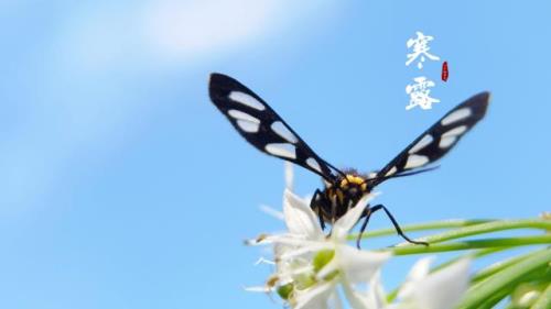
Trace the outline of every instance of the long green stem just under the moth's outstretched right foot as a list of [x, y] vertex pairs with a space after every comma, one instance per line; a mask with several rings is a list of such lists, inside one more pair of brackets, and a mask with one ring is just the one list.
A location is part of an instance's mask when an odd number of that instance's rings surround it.
[[395, 255], [409, 255], [421, 253], [434, 252], [449, 252], [472, 249], [489, 249], [489, 247], [509, 247], [509, 246], [523, 246], [533, 244], [551, 244], [551, 234], [538, 236], [523, 236], [523, 238], [508, 238], [508, 239], [485, 239], [485, 240], [469, 240], [460, 242], [436, 243], [429, 246], [423, 245], [403, 245], [388, 247], [382, 251], [391, 251]]

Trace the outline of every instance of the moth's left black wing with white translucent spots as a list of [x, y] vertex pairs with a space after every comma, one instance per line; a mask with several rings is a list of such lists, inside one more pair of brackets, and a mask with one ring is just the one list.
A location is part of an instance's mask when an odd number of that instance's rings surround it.
[[335, 178], [332, 165], [317, 156], [291, 126], [249, 88], [223, 74], [212, 74], [210, 100], [234, 128], [259, 151], [293, 162], [328, 181]]

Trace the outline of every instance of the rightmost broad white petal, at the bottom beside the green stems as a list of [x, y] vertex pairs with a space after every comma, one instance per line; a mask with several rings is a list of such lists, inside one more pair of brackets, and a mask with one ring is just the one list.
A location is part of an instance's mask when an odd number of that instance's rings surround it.
[[463, 258], [421, 279], [413, 289], [412, 300], [419, 308], [455, 308], [467, 289], [469, 267], [471, 260]]

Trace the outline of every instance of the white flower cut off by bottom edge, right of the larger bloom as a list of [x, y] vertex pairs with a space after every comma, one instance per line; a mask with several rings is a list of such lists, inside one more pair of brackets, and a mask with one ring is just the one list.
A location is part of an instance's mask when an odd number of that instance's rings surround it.
[[455, 308], [468, 286], [471, 260], [462, 258], [429, 274], [432, 257], [421, 258], [411, 268], [398, 293], [400, 301], [386, 304], [379, 276], [374, 276], [366, 297], [369, 308], [385, 309], [451, 309]]

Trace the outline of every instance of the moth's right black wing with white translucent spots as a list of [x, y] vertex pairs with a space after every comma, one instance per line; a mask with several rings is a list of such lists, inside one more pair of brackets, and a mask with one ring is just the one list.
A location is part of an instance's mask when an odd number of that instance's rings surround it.
[[456, 106], [378, 172], [374, 185], [441, 158], [484, 118], [488, 101], [489, 92], [480, 92]]

